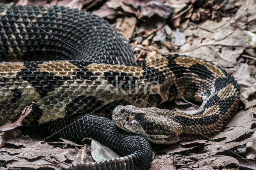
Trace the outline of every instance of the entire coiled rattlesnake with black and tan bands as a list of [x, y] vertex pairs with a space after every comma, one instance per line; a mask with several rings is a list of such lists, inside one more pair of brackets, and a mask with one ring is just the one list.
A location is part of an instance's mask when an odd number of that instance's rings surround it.
[[[25, 126], [55, 133], [71, 124], [58, 135], [90, 137], [124, 156], [69, 169], [146, 170], [146, 139], [205, 138], [238, 107], [240, 88], [224, 69], [177, 54], [134, 62], [124, 36], [83, 10], [1, 4], [0, 37], [0, 125], [34, 102]], [[182, 98], [202, 104], [195, 114], [152, 107]]]

